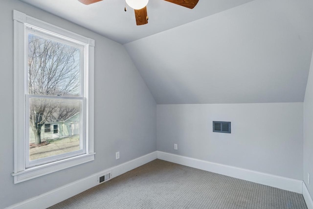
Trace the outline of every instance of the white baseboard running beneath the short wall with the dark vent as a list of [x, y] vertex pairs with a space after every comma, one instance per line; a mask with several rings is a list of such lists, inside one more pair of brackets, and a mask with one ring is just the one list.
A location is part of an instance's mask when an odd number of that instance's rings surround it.
[[157, 151], [157, 159], [302, 194], [303, 181], [301, 180], [276, 176], [268, 173], [262, 173], [220, 163], [202, 161], [199, 159], [188, 158], [161, 151]]

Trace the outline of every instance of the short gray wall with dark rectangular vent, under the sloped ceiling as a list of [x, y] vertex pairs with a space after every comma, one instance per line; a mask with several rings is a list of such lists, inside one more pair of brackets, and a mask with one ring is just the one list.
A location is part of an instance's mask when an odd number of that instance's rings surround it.
[[303, 103], [157, 105], [156, 118], [158, 151], [302, 179]]

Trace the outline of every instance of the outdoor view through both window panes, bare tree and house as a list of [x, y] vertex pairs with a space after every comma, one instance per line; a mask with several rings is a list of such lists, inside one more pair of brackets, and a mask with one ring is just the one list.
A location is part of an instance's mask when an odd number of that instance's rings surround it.
[[[27, 32], [29, 116], [26, 118], [29, 118], [28, 164], [31, 166], [54, 160], [48, 157], [83, 149], [80, 131], [74, 135], [70, 130], [71, 122], [81, 123], [77, 114], [83, 108], [82, 47], [32, 28], [27, 28]], [[39, 159], [45, 161], [36, 163]]]

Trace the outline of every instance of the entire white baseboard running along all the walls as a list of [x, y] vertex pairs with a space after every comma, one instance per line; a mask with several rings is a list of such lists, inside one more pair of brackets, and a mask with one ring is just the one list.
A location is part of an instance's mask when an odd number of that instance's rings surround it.
[[307, 203], [309, 209], [313, 209], [313, 201], [310, 193], [303, 183], [303, 181], [271, 175], [268, 173], [261, 173], [253, 170], [238, 168], [234, 166], [224, 165], [220, 163], [212, 163], [208, 161], [202, 161], [199, 159], [188, 158], [184, 156], [179, 156], [175, 154], [165, 153], [161, 151], [155, 151], [150, 154], [144, 155], [142, 157], [136, 158], [132, 161], [122, 163], [120, 165], [108, 168], [104, 171], [95, 173], [84, 179], [75, 181], [73, 183], [61, 186], [34, 198], [28, 199], [21, 203], [10, 206], [6, 209], [45, 209], [53, 206], [59, 202], [66, 200], [76, 194], [79, 194], [93, 186], [98, 185], [97, 177], [100, 174], [112, 172], [112, 178], [126, 173], [136, 167], [139, 167], [145, 163], [149, 163], [155, 159], [160, 159], [164, 161], [169, 161], [172, 163], [178, 163], [181, 165], [186, 165], [189, 167], [198, 168], [201, 170], [206, 170], [214, 173], [223, 174], [226, 176], [231, 176], [238, 179], [243, 179], [250, 182], [255, 182], [258, 184], [263, 184], [267, 186], [273, 186], [276, 188], [285, 189], [288, 191], [293, 191], [303, 194], [303, 197]]

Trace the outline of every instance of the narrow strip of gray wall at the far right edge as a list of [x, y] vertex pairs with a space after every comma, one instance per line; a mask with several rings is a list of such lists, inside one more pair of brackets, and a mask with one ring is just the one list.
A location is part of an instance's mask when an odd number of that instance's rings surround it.
[[[303, 180], [313, 198], [313, 56], [303, 103]], [[308, 173], [311, 184], [308, 183]]]

